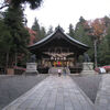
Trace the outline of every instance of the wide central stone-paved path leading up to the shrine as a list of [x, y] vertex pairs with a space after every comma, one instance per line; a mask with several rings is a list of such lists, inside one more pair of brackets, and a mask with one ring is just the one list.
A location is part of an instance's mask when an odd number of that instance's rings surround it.
[[69, 76], [50, 76], [2, 110], [95, 110], [95, 108]]

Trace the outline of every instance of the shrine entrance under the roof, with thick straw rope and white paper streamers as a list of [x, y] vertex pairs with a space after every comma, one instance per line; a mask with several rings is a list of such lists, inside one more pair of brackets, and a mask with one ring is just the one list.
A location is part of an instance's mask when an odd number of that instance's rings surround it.
[[74, 53], [69, 52], [69, 48], [50, 48], [47, 52], [44, 52], [44, 54], [48, 56], [48, 58], [42, 59], [42, 64], [45, 66], [48, 65], [50, 67], [69, 67], [74, 66], [75, 64]]

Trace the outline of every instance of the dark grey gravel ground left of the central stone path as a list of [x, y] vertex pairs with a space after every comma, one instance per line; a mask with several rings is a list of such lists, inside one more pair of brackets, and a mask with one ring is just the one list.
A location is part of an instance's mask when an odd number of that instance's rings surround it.
[[0, 76], [0, 110], [47, 76]]

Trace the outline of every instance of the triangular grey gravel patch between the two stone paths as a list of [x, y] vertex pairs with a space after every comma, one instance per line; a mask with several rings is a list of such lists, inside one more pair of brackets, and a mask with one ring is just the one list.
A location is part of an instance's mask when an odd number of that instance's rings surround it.
[[95, 102], [102, 76], [92, 75], [92, 76], [80, 77], [70, 75], [70, 77], [76, 81], [79, 88], [90, 98], [90, 100]]

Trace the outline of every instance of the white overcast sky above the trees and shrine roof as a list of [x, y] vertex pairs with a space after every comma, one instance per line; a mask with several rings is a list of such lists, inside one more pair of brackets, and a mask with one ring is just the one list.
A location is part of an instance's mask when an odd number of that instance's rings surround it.
[[75, 24], [80, 16], [94, 20], [110, 14], [110, 0], [44, 0], [41, 8], [30, 10], [26, 8], [28, 26], [31, 28], [34, 18], [46, 29], [58, 24], [68, 31], [69, 23]]

